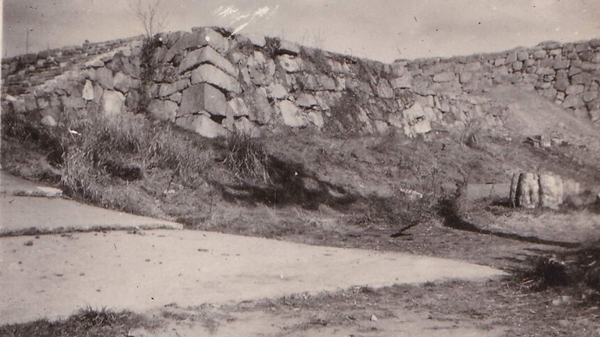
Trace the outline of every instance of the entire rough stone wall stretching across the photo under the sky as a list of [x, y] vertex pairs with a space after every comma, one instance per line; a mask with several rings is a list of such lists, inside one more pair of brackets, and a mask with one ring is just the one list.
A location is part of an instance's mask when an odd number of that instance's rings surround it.
[[283, 127], [413, 137], [472, 118], [500, 126], [503, 106], [476, 94], [512, 83], [600, 122], [600, 39], [384, 64], [200, 27], [159, 35], [151, 65], [147, 52], [134, 38], [3, 60], [2, 108], [54, 126], [72, 111], [143, 106], [212, 138]]

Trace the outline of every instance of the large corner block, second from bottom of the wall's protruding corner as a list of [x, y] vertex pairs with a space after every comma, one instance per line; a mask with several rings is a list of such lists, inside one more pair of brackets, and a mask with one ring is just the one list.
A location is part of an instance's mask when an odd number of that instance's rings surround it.
[[179, 115], [207, 111], [212, 115], [226, 116], [227, 100], [223, 92], [207, 83], [191, 85], [184, 90]]

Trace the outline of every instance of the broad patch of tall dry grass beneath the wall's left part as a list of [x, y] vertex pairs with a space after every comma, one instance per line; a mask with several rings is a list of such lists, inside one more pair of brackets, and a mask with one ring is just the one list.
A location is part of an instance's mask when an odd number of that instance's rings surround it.
[[171, 170], [172, 180], [184, 185], [198, 183], [212, 162], [212, 150], [197, 135], [172, 127], [141, 115], [72, 122], [80, 135], [64, 138], [65, 192], [109, 206], [102, 186], [111, 186], [112, 179], [142, 179], [155, 168]]

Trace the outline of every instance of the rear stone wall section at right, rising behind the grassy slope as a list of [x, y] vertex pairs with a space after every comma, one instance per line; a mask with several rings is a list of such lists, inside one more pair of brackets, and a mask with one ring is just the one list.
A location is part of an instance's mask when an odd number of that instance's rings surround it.
[[393, 67], [393, 88], [429, 97], [427, 107], [442, 113], [461, 115], [461, 110], [468, 110], [452, 104], [462, 94], [513, 84], [535, 90], [580, 117], [600, 122], [600, 39], [542, 42], [530, 49], [497, 54], [398, 60]]

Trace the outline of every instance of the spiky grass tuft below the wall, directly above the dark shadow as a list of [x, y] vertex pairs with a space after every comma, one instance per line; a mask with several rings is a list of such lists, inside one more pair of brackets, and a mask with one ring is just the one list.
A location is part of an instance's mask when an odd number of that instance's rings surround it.
[[271, 183], [269, 153], [258, 138], [242, 132], [231, 133], [226, 142], [225, 163], [232, 174], [241, 181]]

